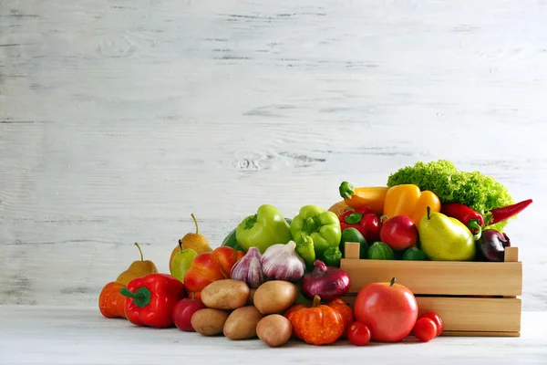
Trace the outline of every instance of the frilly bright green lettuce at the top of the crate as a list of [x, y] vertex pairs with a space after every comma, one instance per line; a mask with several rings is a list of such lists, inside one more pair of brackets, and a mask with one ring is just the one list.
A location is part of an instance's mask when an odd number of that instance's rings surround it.
[[[388, 187], [404, 183], [413, 183], [422, 191], [436, 193], [440, 203], [463, 203], [482, 214], [515, 203], [507, 187], [491, 176], [478, 171], [459, 171], [453, 162], [447, 160], [416, 162], [387, 178]], [[507, 224], [509, 221], [503, 221], [485, 228], [503, 232]]]

